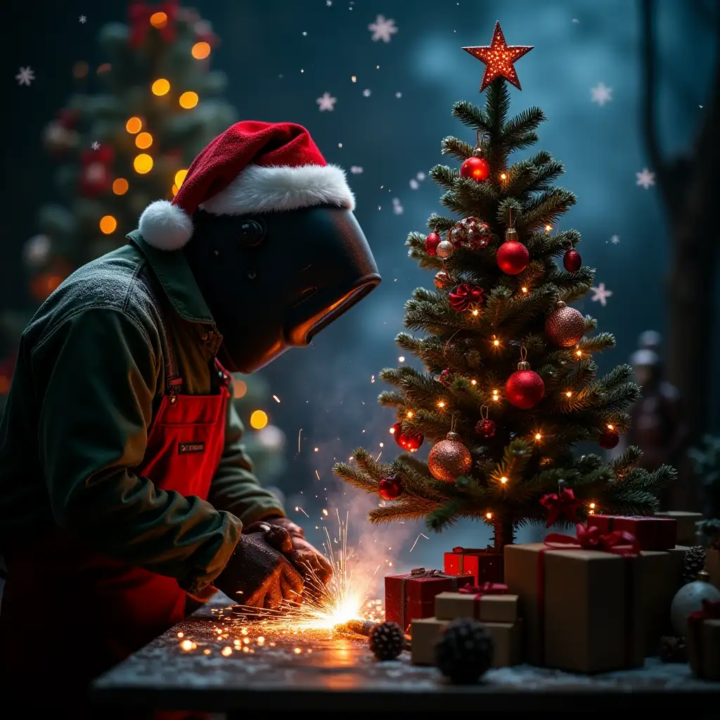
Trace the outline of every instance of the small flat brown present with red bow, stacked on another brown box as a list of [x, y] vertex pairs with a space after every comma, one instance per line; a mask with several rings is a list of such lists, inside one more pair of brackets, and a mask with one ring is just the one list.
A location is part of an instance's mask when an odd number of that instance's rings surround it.
[[508, 586], [501, 582], [465, 585], [456, 593], [435, 596], [438, 620], [475, 618], [487, 623], [514, 623], [518, 619], [518, 596], [508, 595]]

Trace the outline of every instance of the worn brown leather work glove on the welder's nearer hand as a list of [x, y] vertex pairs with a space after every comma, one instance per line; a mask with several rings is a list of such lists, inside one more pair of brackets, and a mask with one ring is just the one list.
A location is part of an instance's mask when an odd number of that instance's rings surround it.
[[[275, 541], [286, 548], [291, 546], [282, 528], [276, 531]], [[270, 546], [264, 532], [248, 533], [246, 528], [212, 584], [240, 605], [273, 610], [283, 600], [297, 602], [303, 590], [302, 576], [282, 551]]]

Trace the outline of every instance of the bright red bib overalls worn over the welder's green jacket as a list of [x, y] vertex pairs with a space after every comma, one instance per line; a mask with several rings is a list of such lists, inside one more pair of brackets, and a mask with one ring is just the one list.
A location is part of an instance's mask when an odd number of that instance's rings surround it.
[[[138, 475], [207, 499], [225, 444], [228, 374], [215, 395], [181, 395], [168, 348], [166, 387]], [[55, 528], [9, 552], [0, 612], [0, 678], [9, 688], [84, 695], [89, 682], [186, 616], [173, 577], [96, 552]]]

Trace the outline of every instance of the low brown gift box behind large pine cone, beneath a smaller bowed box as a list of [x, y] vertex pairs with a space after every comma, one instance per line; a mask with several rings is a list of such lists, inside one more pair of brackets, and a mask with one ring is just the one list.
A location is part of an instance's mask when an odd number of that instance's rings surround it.
[[[435, 665], [435, 645], [449, 620], [420, 618], [413, 620], [413, 665]], [[483, 623], [492, 637], [492, 667], [511, 667], [521, 662], [521, 621], [516, 623]]]

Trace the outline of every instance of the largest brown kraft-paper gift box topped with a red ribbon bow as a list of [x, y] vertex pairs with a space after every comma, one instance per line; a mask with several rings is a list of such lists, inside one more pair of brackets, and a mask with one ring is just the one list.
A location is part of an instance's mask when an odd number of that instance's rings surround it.
[[575, 672], [643, 665], [642, 613], [658, 562], [639, 552], [631, 534], [582, 525], [577, 538], [552, 533], [544, 543], [505, 546], [505, 582], [520, 596], [527, 662]]

